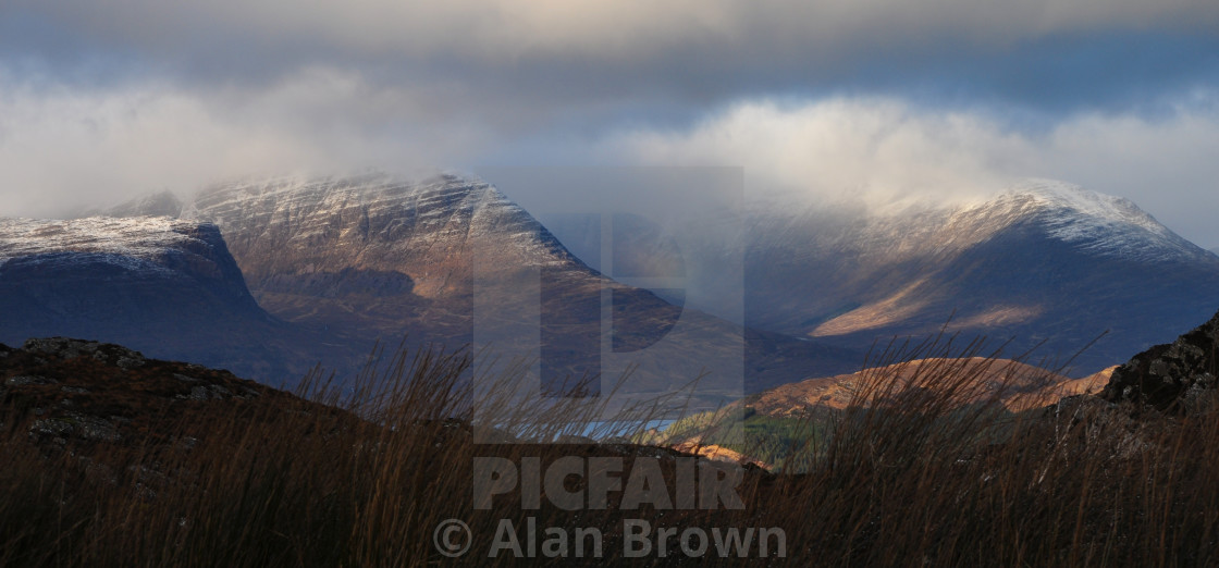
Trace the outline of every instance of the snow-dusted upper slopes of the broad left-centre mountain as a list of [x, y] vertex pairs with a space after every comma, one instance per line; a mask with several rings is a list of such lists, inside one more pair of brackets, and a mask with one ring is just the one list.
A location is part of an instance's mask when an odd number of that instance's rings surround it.
[[[423, 182], [383, 173], [239, 180], [204, 189], [183, 208], [183, 217], [241, 234], [241, 243], [271, 234], [305, 249], [327, 243], [355, 255], [357, 264], [377, 264], [386, 256], [427, 258], [421, 266], [442, 264], [474, 240], [479, 246], [511, 250], [531, 264], [573, 261], [525, 210], [494, 185], [468, 176]], [[238, 245], [234, 254], [240, 258], [245, 251]]]

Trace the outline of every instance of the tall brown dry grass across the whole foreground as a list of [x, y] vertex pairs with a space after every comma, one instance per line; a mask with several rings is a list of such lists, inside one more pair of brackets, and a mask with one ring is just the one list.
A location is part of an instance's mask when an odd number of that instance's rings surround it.
[[[935, 343], [917, 351], [937, 352]], [[964, 351], [969, 351], [967, 347]], [[901, 360], [909, 351], [884, 357]], [[995, 385], [951, 361], [908, 383], [875, 374], [857, 403], [792, 447], [802, 473], [751, 470], [741, 511], [568, 512], [519, 492], [472, 506], [472, 462], [542, 466], [564, 456], [663, 456], [625, 444], [549, 444], [600, 416], [578, 399], [522, 399], [519, 375], [469, 380], [469, 353], [400, 351], [354, 386], [316, 373], [299, 394], [316, 405], [251, 412], [217, 406], [193, 449], [134, 444], [105, 460], [48, 457], [7, 421], [0, 438], [0, 566], [536, 566], [486, 558], [500, 519], [518, 527], [597, 527], [600, 561], [620, 558], [622, 519], [703, 529], [778, 527], [787, 558], [680, 555], [675, 566], [1215, 566], [1219, 563], [1219, 405], [1163, 416], [1070, 399], [1002, 411]], [[1012, 384], [1019, 382], [1012, 378]], [[1002, 391], [1002, 389], [998, 389]], [[341, 411], [338, 411], [338, 410]], [[603, 431], [641, 428], [649, 408]], [[168, 433], [195, 431], [172, 414]], [[485, 430], [478, 430], [485, 429]], [[475, 431], [478, 430], [478, 431]], [[475, 435], [478, 434], [478, 435]], [[497, 444], [480, 444], [495, 440]], [[102, 463], [105, 462], [105, 463]], [[795, 463], [795, 462], [794, 462]], [[569, 479], [569, 485], [581, 483]], [[574, 485], [573, 485], [574, 486]], [[433, 530], [469, 524], [461, 562]], [[670, 550], [678, 550], [670, 541]]]

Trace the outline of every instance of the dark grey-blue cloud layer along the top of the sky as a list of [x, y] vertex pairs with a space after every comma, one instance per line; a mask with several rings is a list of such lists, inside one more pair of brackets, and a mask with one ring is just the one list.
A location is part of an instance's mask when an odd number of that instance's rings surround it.
[[66, 80], [190, 89], [334, 67], [452, 85], [466, 112], [507, 127], [852, 90], [1121, 110], [1219, 77], [1219, 7], [1206, 1], [401, 4], [13, 0], [0, 52]]

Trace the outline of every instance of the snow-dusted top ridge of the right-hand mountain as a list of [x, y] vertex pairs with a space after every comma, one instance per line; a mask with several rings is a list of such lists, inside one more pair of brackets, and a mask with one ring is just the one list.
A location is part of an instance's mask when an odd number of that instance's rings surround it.
[[753, 247], [848, 251], [874, 261], [965, 250], [1014, 225], [1035, 227], [1051, 239], [1102, 257], [1215, 261], [1215, 255], [1164, 227], [1132, 201], [1052, 179], [1025, 179], [990, 199], [953, 206], [917, 202], [876, 210], [844, 202], [785, 208], [762, 200], [750, 206], [750, 216]]

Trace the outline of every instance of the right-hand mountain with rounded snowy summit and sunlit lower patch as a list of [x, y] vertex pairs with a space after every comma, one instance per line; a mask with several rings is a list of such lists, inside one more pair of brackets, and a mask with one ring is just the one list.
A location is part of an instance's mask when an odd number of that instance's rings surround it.
[[751, 212], [747, 323], [861, 345], [950, 329], [1095, 372], [1219, 306], [1219, 257], [1129, 200], [1031, 180], [892, 215]]

